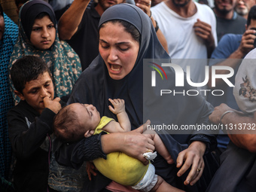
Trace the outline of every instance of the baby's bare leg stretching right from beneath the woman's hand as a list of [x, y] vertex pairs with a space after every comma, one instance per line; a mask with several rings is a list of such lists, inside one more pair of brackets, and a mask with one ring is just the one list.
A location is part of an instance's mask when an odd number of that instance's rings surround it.
[[156, 148], [157, 153], [159, 153], [169, 164], [174, 163], [171, 155], [167, 151], [166, 146], [163, 144], [160, 136], [157, 133], [152, 133], [152, 130], [146, 130], [143, 134], [147, 135], [154, 141], [154, 147]]

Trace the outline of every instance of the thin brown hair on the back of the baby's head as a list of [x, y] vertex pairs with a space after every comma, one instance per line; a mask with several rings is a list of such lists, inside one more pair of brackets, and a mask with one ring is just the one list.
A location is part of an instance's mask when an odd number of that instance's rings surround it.
[[53, 133], [61, 142], [77, 142], [84, 138], [78, 116], [70, 105], [59, 110], [53, 120]]

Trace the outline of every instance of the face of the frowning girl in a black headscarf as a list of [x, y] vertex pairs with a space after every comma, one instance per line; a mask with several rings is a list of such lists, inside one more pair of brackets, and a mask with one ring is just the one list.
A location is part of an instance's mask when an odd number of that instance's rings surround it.
[[49, 49], [56, 38], [56, 29], [49, 16], [36, 19], [30, 35], [31, 43], [39, 50]]

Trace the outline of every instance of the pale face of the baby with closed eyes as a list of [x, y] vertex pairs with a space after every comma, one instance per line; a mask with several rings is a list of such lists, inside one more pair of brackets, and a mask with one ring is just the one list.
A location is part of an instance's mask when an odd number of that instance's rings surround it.
[[90, 130], [95, 130], [100, 121], [99, 111], [97, 111], [96, 107], [81, 103], [74, 103], [72, 105], [75, 107], [79, 123], [89, 127]]

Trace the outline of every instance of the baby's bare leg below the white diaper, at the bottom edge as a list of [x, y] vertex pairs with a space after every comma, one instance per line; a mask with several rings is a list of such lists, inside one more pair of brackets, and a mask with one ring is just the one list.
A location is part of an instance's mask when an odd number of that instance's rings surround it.
[[169, 183], [163, 180], [159, 175], [157, 175], [157, 184], [151, 189], [152, 192], [182, 192], [184, 190], [180, 190], [176, 187], [173, 187]]

